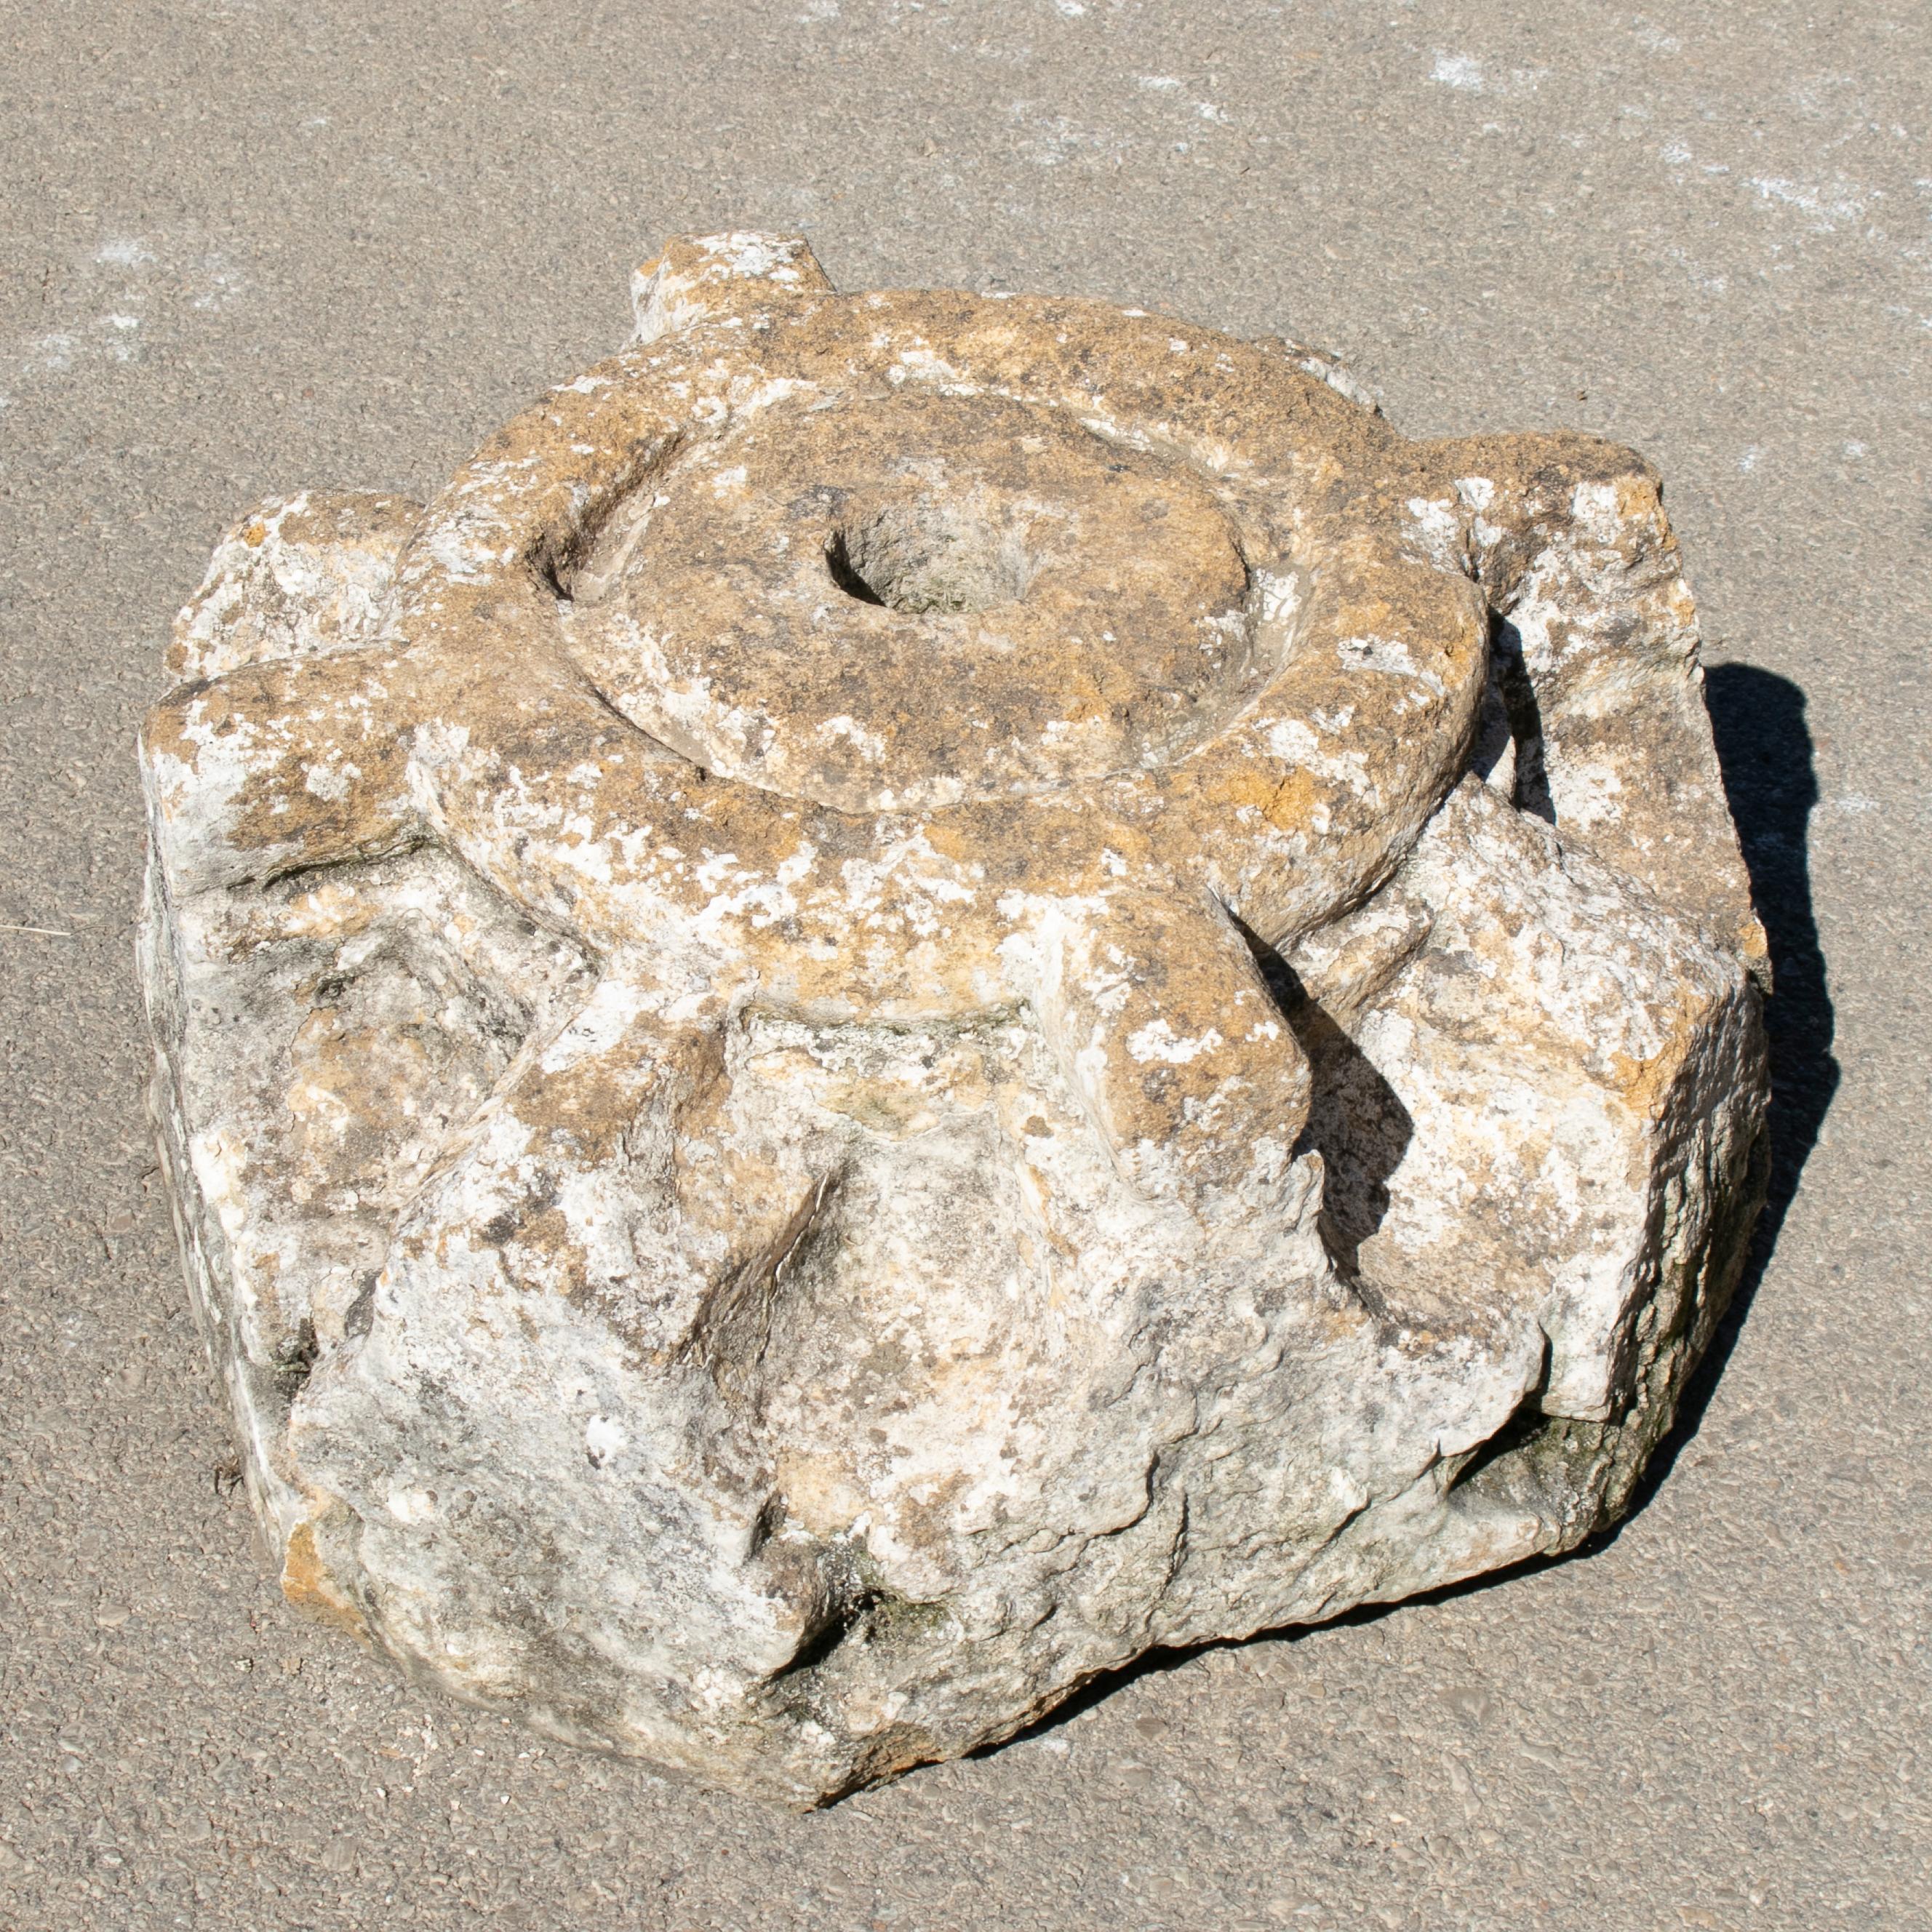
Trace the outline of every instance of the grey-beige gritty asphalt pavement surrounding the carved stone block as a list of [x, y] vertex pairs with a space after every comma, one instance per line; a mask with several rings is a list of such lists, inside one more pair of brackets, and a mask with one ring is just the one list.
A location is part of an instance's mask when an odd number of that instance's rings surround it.
[[[10, 0], [0, 62], [0, 1926], [1932, 1922], [1932, 12]], [[280, 1605], [129, 949], [131, 736], [218, 529], [433, 489], [719, 226], [1646, 450], [1781, 987], [1747, 1304], [1621, 1534], [811, 1818]]]

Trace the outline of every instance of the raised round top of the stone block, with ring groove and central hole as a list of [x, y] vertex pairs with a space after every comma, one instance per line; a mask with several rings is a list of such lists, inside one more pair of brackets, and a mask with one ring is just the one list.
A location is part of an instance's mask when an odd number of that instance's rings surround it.
[[1117, 1148], [1293, 1142], [1229, 914], [1285, 945], [1383, 877], [1484, 680], [1414, 446], [1279, 346], [837, 296], [802, 243], [674, 245], [639, 309], [404, 558], [440, 835], [597, 951], [709, 947], [713, 993], [1026, 1001]]

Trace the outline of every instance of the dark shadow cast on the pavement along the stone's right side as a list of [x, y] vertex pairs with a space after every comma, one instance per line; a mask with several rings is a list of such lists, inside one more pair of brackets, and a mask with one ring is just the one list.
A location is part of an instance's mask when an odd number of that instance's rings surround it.
[[[1615, 1542], [1662, 1488], [1671, 1466], [1696, 1437], [1710, 1405], [1712, 1391], [1723, 1376], [1725, 1362], [1737, 1347], [1739, 1331], [1750, 1314], [1758, 1283], [1770, 1265], [1783, 1229], [1785, 1213], [1797, 1196], [1799, 1177], [1818, 1144], [1818, 1132], [1832, 1107], [1839, 1084], [1839, 1066], [1832, 1055], [1835, 1020], [1832, 993], [1818, 945], [1818, 920], [1812, 912], [1810, 889], [1810, 815], [1818, 804], [1818, 773], [1812, 759], [1812, 736], [1804, 719], [1804, 692], [1789, 678], [1756, 665], [1718, 665], [1706, 672], [1704, 699], [1710, 707], [1712, 736], [1718, 744], [1718, 765], [1723, 771], [1723, 792], [1737, 821], [1745, 869], [1750, 873], [1750, 896], [1772, 952], [1772, 999], [1764, 1018], [1772, 1047], [1772, 1171], [1764, 1213], [1750, 1242], [1750, 1256], [1712, 1337], [1712, 1345], [1690, 1378], [1677, 1406], [1677, 1424], [1658, 1445], [1636, 1497], [1621, 1522], [1592, 1536], [1577, 1549], [1557, 1557], [1532, 1557], [1507, 1571], [1472, 1577], [1403, 1604], [1366, 1604], [1347, 1611], [1333, 1623], [1372, 1623], [1391, 1609], [1414, 1604], [1445, 1602], [1472, 1590], [1488, 1590], [1526, 1571], [1571, 1563]], [[1294, 1638], [1310, 1627], [1260, 1631], [1244, 1642]], [[1200, 1650], [1236, 1648], [1231, 1644], [1200, 1644], [1186, 1650], [1150, 1650], [1132, 1663], [1097, 1677], [1076, 1690], [1065, 1704], [1020, 1731], [1018, 1737], [1037, 1737], [1066, 1723], [1070, 1718], [1111, 1696], [1136, 1677], [1175, 1669]], [[987, 1745], [985, 1750], [999, 1750]], [[981, 1756], [983, 1752], [976, 1752]]]

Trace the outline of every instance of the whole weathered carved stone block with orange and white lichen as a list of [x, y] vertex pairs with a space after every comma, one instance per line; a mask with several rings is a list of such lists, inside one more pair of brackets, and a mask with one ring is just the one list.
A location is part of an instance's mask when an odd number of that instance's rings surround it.
[[288, 1596], [811, 1804], [1575, 1546], [1762, 1192], [1652, 471], [672, 243], [427, 508], [263, 506], [143, 765]]

